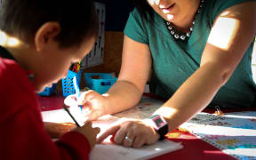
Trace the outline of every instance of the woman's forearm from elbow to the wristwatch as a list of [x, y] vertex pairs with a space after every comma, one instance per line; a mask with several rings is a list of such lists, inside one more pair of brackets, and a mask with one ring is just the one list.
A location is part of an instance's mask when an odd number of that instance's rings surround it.
[[216, 64], [205, 64], [155, 114], [164, 116], [172, 131], [204, 109], [230, 75], [231, 73], [225, 73], [223, 69], [216, 67]]

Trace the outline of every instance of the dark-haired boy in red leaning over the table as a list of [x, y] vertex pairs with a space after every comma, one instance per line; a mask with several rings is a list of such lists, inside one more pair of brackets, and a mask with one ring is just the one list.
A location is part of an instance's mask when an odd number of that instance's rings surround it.
[[88, 159], [100, 129], [88, 122], [52, 142], [36, 92], [92, 49], [93, 1], [4, 0], [0, 29], [1, 159]]

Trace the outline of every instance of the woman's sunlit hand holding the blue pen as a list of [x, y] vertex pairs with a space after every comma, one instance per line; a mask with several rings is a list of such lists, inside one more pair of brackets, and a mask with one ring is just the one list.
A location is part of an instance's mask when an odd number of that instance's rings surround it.
[[87, 92], [81, 92], [80, 97], [76, 100], [76, 94], [68, 96], [64, 103], [67, 106], [78, 107], [83, 105], [83, 114], [88, 120], [96, 120], [100, 116], [108, 114], [106, 107], [106, 96], [101, 95], [98, 92], [89, 90]]

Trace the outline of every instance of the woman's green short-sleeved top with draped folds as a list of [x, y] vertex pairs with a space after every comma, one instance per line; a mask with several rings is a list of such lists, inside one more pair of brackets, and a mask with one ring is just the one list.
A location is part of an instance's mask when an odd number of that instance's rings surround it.
[[[124, 35], [149, 45], [153, 60], [150, 91], [166, 99], [171, 98], [180, 85], [199, 68], [204, 46], [216, 17], [228, 7], [248, 1], [252, 0], [205, 0], [196, 15], [196, 23], [187, 42], [175, 40], [166, 28], [164, 19], [156, 12], [151, 18], [148, 15], [151, 20], [149, 22], [142, 20], [138, 10], [134, 9], [124, 28]], [[254, 41], [210, 106], [252, 106], [256, 92], [251, 65], [253, 44]]]

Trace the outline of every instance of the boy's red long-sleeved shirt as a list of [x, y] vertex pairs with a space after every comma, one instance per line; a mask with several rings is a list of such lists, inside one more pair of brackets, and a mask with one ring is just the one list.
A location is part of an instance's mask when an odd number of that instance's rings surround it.
[[89, 159], [79, 132], [53, 142], [45, 132], [33, 84], [14, 60], [0, 57], [0, 159]]

